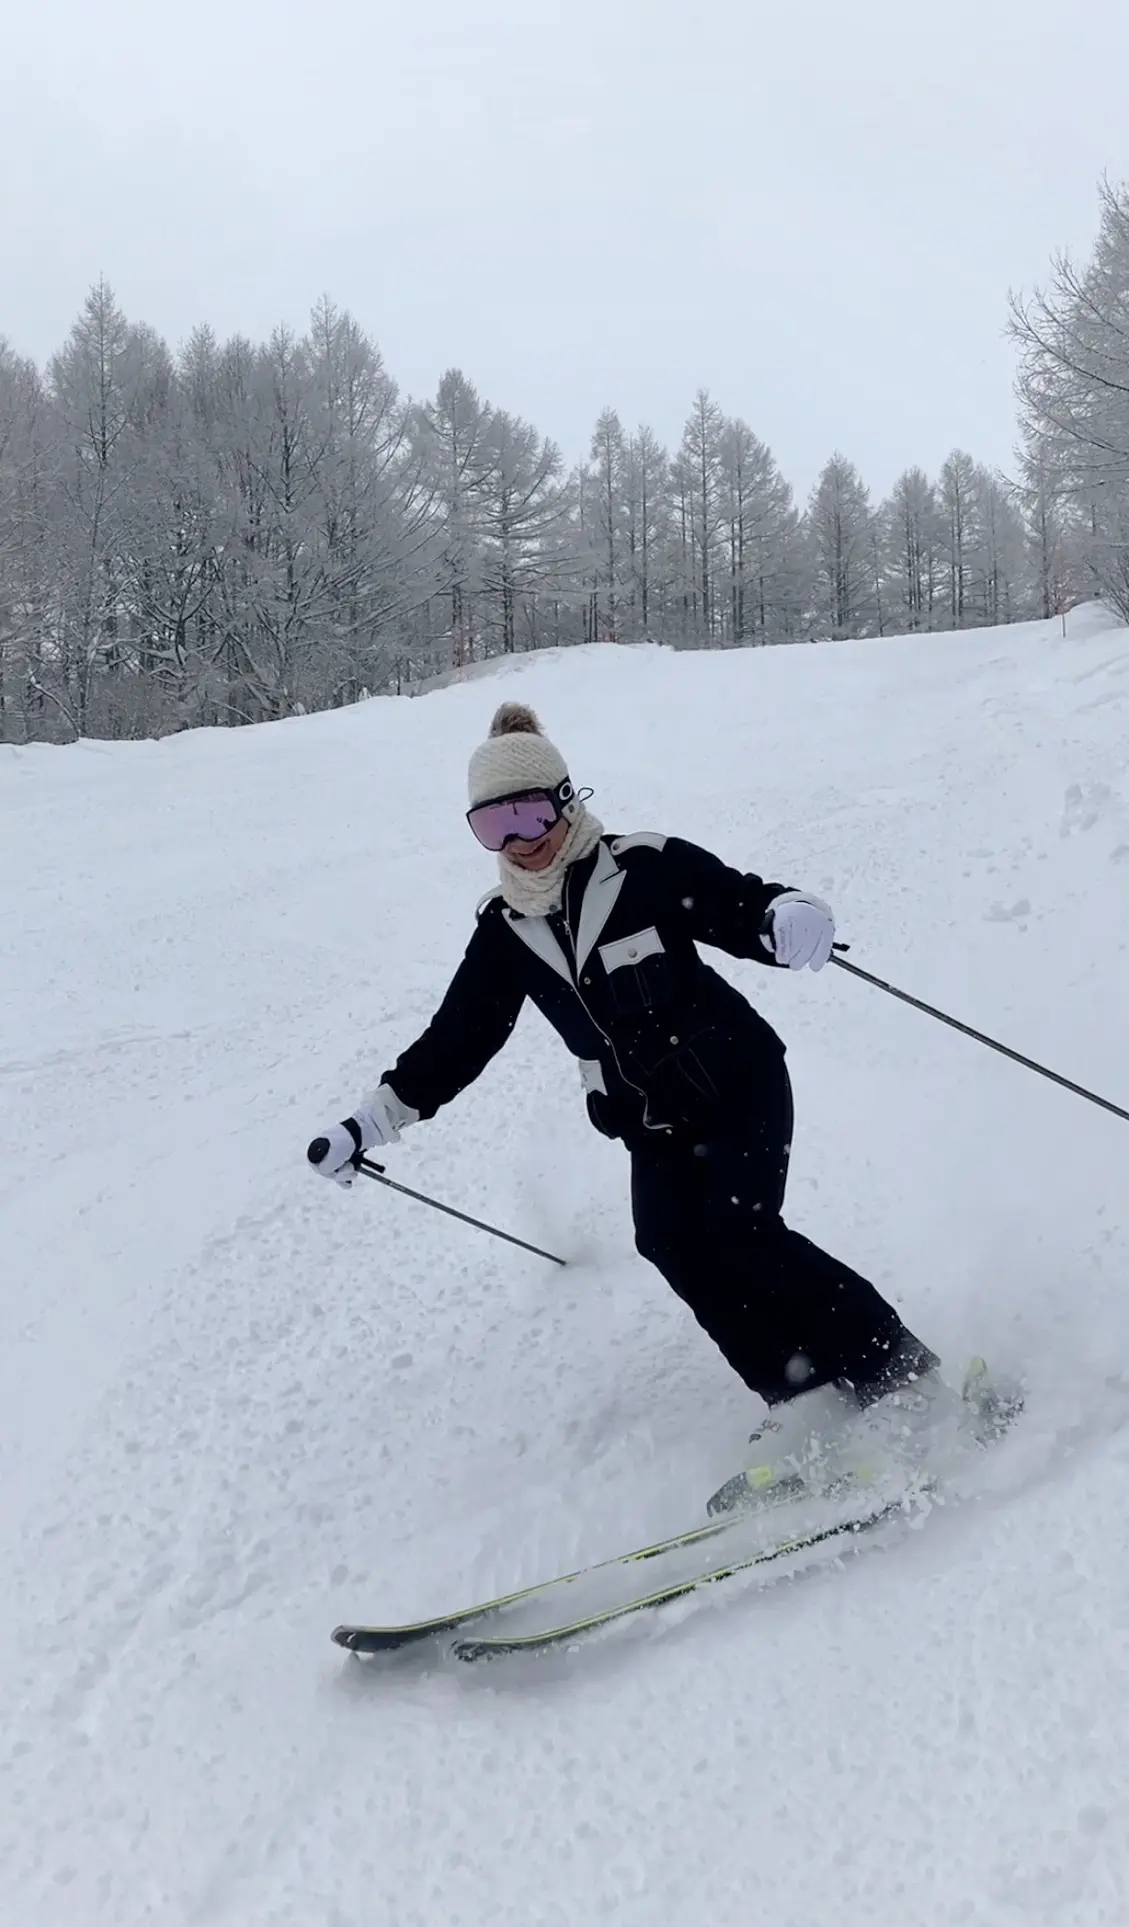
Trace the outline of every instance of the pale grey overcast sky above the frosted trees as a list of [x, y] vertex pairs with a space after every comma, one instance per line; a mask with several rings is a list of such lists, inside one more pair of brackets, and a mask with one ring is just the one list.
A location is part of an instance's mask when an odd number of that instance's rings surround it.
[[703, 385], [800, 491], [1008, 464], [1008, 289], [1089, 249], [1127, 73], [1127, 0], [0, 0], [0, 333], [329, 293], [570, 459]]

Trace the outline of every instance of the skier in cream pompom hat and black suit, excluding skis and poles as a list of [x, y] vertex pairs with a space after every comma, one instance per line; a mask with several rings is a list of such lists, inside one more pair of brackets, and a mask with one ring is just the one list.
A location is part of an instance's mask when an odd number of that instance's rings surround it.
[[811, 1441], [890, 1393], [921, 1387], [907, 1401], [921, 1405], [940, 1389], [934, 1353], [875, 1285], [784, 1224], [784, 1044], [697, 954], [819, 971], [827, 904], [678, 836], [605, 834], [520, 703], [497, 711], [468, 792], [499, 886], [432, 1023], [310, 1145], [314, 1168], [349, 1185], [362, 1152], [433, 1118], [501, 1050], [528, 996], [580, 1060], [591, 1123], [630, 1152], [638, 1251], [769, 1405], [755, 1484], [794, 1472]]

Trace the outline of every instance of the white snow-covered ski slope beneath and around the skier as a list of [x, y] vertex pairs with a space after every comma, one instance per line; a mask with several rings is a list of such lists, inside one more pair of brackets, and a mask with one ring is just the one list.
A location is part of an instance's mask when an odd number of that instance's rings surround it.
[[1100, 611], [0, 750], [0, 1917], [1123, 1927], [1129, 1129], [842, 971], [724, 965], [790, 1043], [790, 1218], [1029, 1378], [981, 1497], [553, 1661], [328, 1642], [694, 1520], [755, 1416], [536, 1014], [395, 1175], [566, 1272], [304, 1170], [460, 956], [516, 692], [611, 827], [817, 888], [859, 964], [1129, 1100]]

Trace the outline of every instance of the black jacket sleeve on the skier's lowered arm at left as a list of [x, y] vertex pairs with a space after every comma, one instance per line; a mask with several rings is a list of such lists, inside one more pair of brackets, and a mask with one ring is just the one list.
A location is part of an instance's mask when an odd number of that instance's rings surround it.
[[518, 946], [497, 911], [497, 902], [487, 904], [428, 1029], [383, 1073], [420, 1118], [433, 1118], [474, 1083], [518, 1021], [526, 998], [512, 969]]

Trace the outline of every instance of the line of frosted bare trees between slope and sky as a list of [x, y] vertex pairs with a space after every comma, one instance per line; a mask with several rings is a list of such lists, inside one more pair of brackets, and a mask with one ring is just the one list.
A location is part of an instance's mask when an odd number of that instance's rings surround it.
[[568, 468], [449, 370], [401, 395], [322, 301], [304, 335], [173, 355], [91, 289], [39, 368], [0, 341], [0, 740], [258, 723], [578, 642], [726, 647], [1129, 617], [1129, 200], [1013, 301], [1015, 478], [954, 451], [800, 505], [699, 391], [682, 441], [599, 416]]

